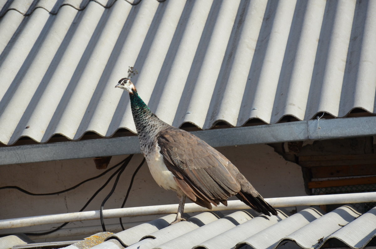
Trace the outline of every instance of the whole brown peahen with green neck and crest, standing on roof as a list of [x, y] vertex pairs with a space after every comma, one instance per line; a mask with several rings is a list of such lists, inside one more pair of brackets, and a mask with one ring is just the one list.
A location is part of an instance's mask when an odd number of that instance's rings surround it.
[[135, 72], [119, 80], [115, 87], [129, 92], [141, 152], [157, 184], [174, 190], [179, 198], [176, 219], [182, 217], [185, 198], [212, 209], [219, 203], [227, 205], [227, 198], [236, 195], [248, 206], [270, 216], [277, 211], [255, 190], [229, 159], [195, 135], [168, 125], [153, 114], [138, 96], [130, 81]]

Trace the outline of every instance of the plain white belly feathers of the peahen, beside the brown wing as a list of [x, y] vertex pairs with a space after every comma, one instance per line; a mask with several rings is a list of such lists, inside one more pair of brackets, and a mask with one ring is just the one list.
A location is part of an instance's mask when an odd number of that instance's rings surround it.
[[149, 154], [146, 157], [146, 162], [149, 166], [150, 173], [159, 187], [180, 192], [181, 190], [174, 180], [174, 175], [167, 169], [160, 151], [161, 147], [159, 147], [157, 144], [155, 153], [152, 153], [151, 155]]

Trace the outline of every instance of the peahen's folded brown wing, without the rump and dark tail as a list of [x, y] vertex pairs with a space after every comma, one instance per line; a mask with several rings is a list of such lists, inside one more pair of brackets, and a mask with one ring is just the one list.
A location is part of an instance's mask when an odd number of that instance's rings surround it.
[[[215, 206], [220, 202], [226, 204], [224, 201], [240, 190], [240, 185], [223, 165], [218, 166], [218, 160], [190, 133], [181, 133], [177, 129], [162, 131], [158, 144], [167, 168], [177, 178], [177, 184], [198, 205], [203, 202], [205, 207], [211, 207], [210, 203]], [[227, 179], [224, 174], [227, 174]], [[192, 198], [192, 193], [201, 201]]]

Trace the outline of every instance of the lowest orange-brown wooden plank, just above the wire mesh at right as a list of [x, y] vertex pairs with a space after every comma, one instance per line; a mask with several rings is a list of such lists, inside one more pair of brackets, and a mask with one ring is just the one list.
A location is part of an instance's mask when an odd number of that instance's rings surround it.
[[360, 184], [375, 184], [376, 176], [308, 182], [308, 188], [339, 187]]

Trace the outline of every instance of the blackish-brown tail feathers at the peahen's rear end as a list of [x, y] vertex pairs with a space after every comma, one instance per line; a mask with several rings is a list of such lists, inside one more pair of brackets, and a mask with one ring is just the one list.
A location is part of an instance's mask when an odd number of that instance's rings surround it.
[[259, 213], [263, 213], [267, 216], [270, 214], [278, 215], [277, 210], [275, 210], [269, 203], [267, 203], [264, 198], [258, 193], [254, 195], [240, 191], [236, 194], [239, 200], [246, 203], [248, 206], [253, 208]]

